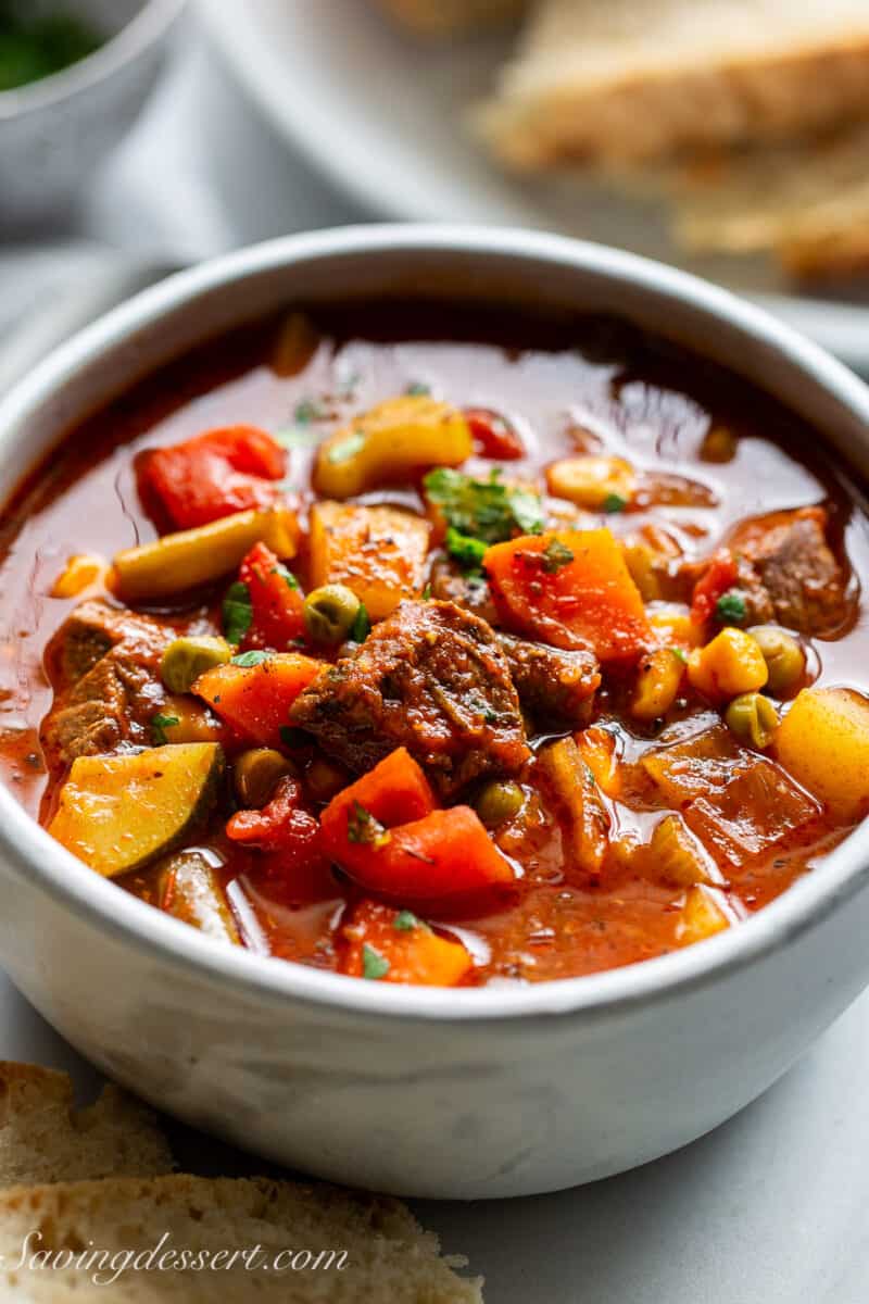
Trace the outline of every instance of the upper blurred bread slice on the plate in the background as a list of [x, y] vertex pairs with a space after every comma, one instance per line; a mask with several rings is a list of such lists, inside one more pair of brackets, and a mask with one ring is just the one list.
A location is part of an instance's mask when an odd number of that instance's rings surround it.
[[478, 126], [517, 168], [664, 159], [869, 119], [866, 0], [539, 0]]

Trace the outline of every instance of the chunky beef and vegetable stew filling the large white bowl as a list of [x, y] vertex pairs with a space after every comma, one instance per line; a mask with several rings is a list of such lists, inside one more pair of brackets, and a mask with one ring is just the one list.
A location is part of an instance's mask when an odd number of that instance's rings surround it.
[[860, 490], [627, 325], [246, 327], [70, 432], [0, 545], [7, 782], [223, 945], [591, 973], [737, 927], [869, 814]]

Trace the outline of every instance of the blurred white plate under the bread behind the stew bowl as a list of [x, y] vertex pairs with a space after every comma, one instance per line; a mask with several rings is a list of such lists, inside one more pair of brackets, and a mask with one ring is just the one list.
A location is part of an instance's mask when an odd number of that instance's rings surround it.
[[869, 369], [869, 312], [780, 297], [765, 259], [680, 258], [653, 203], [578, 183], [520, 181], [491, 166], [463, 123], [508, 39], [431, 50], [393, 31], [371, 0], [199, 0], [199, 10], [272, 125], [369, 213], [538, 227], [677, 262], [765, 299]]

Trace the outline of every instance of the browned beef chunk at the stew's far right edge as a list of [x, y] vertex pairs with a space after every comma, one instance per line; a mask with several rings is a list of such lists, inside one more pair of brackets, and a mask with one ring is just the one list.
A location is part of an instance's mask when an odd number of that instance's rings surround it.
[[775, 621], [799, 634], [831, 635], [849, 617], [846, 575], [826, 540], [822, 507], [773, 512], [731, 541], [752, 623]]

